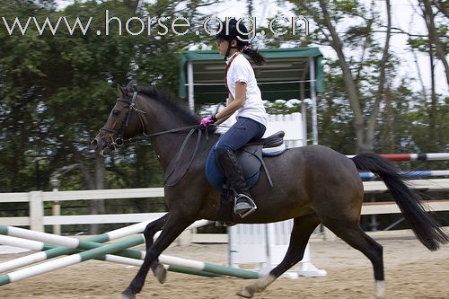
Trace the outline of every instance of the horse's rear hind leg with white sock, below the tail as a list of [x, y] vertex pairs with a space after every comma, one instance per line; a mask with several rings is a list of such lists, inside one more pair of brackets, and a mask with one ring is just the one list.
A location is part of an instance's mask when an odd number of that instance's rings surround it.
[[383, 298], [385, 295], [383, 275], [383, 247], [368, 236], [358, 223], [322, 219], [322, 224], [327, 226], [343, 241], [365, 254], [371, 260], [374, 268], [375, 297]]

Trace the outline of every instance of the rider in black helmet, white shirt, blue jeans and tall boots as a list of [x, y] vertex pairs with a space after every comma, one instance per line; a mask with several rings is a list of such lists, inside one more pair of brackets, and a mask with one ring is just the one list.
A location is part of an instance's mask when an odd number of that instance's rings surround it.
[[[227, 30], [226, 30], [227, 26]], [[238, 26], [238, 27], [237, 27]], [[225, 86], [228, 99], [224, 110], [214, 116], [201, 120], [203, 128], [210, 124], [218, 125], [237, 111], [237, 122], [220, 137], [216, 145], [216, 157], [228, 184], [234, 190], [233, 211], [243, 218], [256, 210], [251, 193], [243, 177], [242, 167], [235, 157], [235, 151], [252, 138], [261, 137], [267, 126], [267, 113], [263, 106], [260, 89], [254, 70], [246, 57], [256, 65], [262, 65], [265, 58], [257, 49], [250, 48], [250, 35], [242, 22], [230, 19], [224, 22], [216, 34], [220, 55], [225, 56]]]

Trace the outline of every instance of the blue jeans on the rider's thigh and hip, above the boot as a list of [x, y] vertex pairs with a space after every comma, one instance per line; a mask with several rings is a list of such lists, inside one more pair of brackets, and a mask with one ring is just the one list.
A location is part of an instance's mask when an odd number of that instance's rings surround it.
[[239, 118], [233, 127], [220, 137], [216, 145], [216, 155], [223, 156], [228, 149], [234, 153], [252, 138], [260, 138], [265, 133], [265, 126], [253, 119]]

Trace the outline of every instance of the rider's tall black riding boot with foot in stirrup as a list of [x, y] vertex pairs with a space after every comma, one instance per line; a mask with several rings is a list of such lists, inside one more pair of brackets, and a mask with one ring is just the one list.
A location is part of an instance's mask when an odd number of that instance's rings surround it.
[[237, 161], [237, 157], [232, 150], [227, 150], [225, 154], [220, 155], [219, 161], [228, 183], [234, 189], [236, 196], [234, 198], [233, 212], [239, 214], [242, 218], [253, 213], [257, 207], [251, 199], [251, 193], [246, 186], [243, 177], [242, 167]]

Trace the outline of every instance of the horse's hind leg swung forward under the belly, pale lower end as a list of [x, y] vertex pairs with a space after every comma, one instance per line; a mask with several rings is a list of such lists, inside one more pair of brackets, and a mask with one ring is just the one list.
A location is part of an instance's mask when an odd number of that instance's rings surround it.
[[266, 277], [260, 277], [250, 286], [243, 287], [237, 295], [251, 298], [254, 293], [265, 290], [277, 277], [280, 277], [286, 270], [301, 261], [310, 235], [318, 224], [320, 224], [320, 219], [315, 214], [295, 218], [292, 233], [290, 234], [290, 244], [281, 263], [276, 268], [273, 268]]

